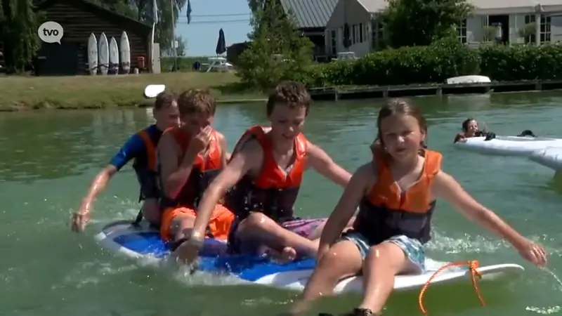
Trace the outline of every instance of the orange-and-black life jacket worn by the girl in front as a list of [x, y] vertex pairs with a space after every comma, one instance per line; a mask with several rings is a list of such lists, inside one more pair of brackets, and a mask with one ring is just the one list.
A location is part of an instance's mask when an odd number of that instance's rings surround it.
[[401, 192], [384, 157], [376, 155], [377, 183], [362, 199], [353, 225], [370, 244], [380, 244], [396, 235], [418, 239], [421, 243], [431, 239], [431, 215], [436, 205], [431, 200], [431, 183], [441, 169], [443, 156], [431, 150], [424, 150], [424, 156], [419, 180]]

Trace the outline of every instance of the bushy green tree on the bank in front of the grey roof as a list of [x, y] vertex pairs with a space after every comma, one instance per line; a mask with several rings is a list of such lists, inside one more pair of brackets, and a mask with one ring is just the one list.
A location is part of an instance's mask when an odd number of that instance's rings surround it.
[[250, 44], [237, 61], [237, 75], [244, 84], [265, 90], [306, 70], [313, 45], [280, 1], [262, 1], [252, 13]]

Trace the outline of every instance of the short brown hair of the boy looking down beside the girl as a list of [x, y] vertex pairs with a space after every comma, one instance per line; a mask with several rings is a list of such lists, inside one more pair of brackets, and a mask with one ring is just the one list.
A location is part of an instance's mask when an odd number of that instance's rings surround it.
[[304, 107], [308, 115], [308, 107], [311, 106], [311, 95], [306, 86], [296, 81], [285, 81], [278, 84], [269, 94], [267, 103], [268, 116], [277, 105], [285, 105], [289, 108]]

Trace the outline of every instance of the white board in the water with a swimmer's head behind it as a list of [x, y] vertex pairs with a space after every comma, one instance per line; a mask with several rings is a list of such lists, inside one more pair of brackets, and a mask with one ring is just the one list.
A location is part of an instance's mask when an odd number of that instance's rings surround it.
[[466, 138], [455, 143], [455, 146], [473, 152], [504, 156], [528, 156], [547, 147], [562, 147], [560, 138], [496, 136], [490, 140], [485, 139], [485, 137]]

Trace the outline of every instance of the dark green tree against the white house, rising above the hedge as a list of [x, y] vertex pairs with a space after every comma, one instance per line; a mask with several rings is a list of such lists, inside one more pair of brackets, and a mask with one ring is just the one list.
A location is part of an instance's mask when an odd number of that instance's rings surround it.
[[466, 0], [388, 0], [381, 18], [391, 46], [426, 46], [456, 37], [457, 25], [472, 9]]

